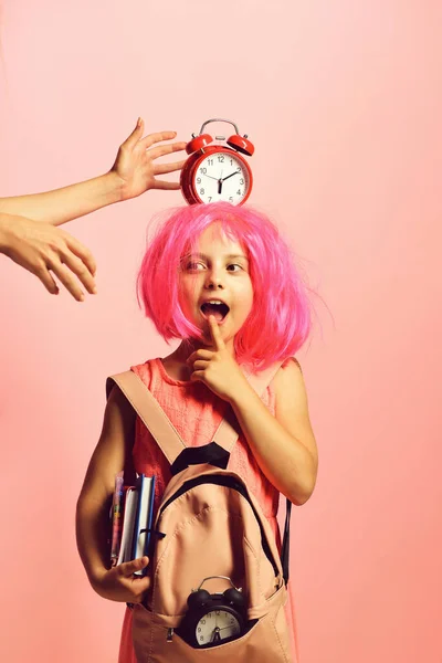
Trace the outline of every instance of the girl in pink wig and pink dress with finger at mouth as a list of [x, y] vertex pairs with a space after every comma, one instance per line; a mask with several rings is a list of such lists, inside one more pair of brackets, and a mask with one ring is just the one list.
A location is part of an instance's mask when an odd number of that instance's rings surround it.
[[[187, 445], [199, 446], [232, 408], [240, 435], [229, 470], [248, 483], [281, 545], [280, 493], [301, 506], [313, 493], [317, 450], [299, 365], [293, 355], [311, 330], [306, 288], [287, 245], [262, 214], [229, 203], [171, 212], [147, 249], [138, 276], [146, 315], [167, 340], [169, 356], [131, 370], [159, 401]], [[283, 361], [262, 399], [242, 369], [257, 372]], [[77, 544], [95, 591], [110, 600], [140, 602], [149, 588], [147, 557], [109, 568], [106, 546], [115, 474], [129, 459], [138, 473], [157, 476], [158, 507], [170, 469], [150, 433], [118, 388], [77, 505]], [[293, 594], [286, 617], [292, 656], [298, 661]], [[131, 612], [126, 611], [119, 663], [135, 663]]]

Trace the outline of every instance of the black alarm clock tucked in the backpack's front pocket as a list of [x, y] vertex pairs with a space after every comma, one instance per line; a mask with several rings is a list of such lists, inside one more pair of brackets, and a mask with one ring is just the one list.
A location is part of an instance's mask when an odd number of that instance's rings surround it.
[[[223, 592], [209, 593], [201, 589], [206, 580], [221, 578], [232, 587]], [[188, 611], [177, 633], [193, 648], [210, 648], [223, 644], [246, 632], [245, 599], [227, 576], [204, 578], [187, 600]]]

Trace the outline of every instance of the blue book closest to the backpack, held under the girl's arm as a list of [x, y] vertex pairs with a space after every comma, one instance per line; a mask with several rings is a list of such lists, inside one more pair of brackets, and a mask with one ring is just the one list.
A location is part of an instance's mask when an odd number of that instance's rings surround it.
[[[131, 559], [149, 555], [150, 529], [154, 518], [155, 476], [140, 474], [136, 491], [138, 493], [137, 512], [135, 516]], [[137, 576], [145, 576], [147, 568], [137, 571]]]

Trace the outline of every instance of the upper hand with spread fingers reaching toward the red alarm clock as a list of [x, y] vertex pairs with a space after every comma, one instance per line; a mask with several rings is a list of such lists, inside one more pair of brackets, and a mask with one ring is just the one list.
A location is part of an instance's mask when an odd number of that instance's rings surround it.
[[185, 160], [159, 165], [155, 162], [155, 159], [185, 149], [186, 143], [157, 146], [157, 143], [175, 138], [176, 131], [160, 131], [143, 138], [144, 127], [145, 123], [139, 118], [134, 131], [119, 147], [117, 158], [112, 167], [112, 172], [115, 172], [122, 181], [122, 200], [140, 196], [148, 189], [180, 188], [179, 182], [159, 180], [156, 179], [156, 176], [180, 170]]

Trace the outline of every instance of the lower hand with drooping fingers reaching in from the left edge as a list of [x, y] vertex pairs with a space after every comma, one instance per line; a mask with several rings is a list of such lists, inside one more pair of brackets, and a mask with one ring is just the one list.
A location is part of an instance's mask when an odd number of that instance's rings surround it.
[[88, 293], [96, 293], [92, 253], [51, 223], [0, 214], [0, 252], [35, 274], [53, 295], [59, 294], [59, 286], [51, 272], [77, 302], [84, 299], [81, 284]]

